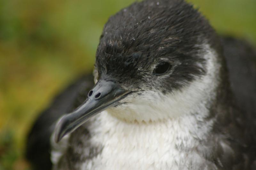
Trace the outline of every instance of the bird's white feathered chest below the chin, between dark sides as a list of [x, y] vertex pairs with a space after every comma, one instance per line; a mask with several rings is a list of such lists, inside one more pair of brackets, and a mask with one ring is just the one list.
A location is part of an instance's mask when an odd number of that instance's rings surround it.
[[[97, 127], [95, 127], [97, 126]], [[84, 161], [82, 169], [188, 169], [198, 155], [190, 151], [196, 141], [179, 125], [127, 124], [120, 121], [94, 124], [90, 143], [102, 147]], [[183, 127], [184, 128], [184, 127]], [[183, 131], [182, 131], [183, 130]], [[200, 160], [199, 160], [200, 161]]]

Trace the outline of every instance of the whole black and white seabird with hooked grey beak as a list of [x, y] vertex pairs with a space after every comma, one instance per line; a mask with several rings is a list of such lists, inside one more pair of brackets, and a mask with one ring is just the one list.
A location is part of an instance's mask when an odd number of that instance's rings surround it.
[[255, 128], [255, 48], [184, 0], [143, 0], [108, 19], [93, 76], [42, 112], [26, 155], [35, 169], [250, 170]]

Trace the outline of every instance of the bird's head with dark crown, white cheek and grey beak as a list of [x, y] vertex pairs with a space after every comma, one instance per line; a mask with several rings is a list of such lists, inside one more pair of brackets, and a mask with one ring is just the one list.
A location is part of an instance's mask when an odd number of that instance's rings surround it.
[[103, 110], [137, 123], [205, 112], [219, 82], [216, 37], [183, 0], [145, 0], [110, 17], [96, 53], [96, 84], [60, 120], [56, 141]]

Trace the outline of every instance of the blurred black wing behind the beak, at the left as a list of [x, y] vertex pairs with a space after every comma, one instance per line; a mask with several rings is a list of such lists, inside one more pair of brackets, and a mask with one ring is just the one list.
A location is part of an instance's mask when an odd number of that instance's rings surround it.
[[64, 113], [68, 113], [82, 104], [93, 84], [92, 75], [80, 78], [60, 93], [50, 107], [39, 115], [29, 132], [26, 148], [26, 157], [35, 170], [52, 168], [50, 136], [56, 120]]

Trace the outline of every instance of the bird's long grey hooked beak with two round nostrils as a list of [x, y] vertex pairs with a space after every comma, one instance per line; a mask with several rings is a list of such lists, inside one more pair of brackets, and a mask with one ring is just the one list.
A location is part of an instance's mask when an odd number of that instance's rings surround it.
[[74, 112], [63, 116], [55, 129], [55, 142], [80, 127], [90, 117], [118, 105], [118, 101], [129, 91], [122, 89], [113, 81], [98, 81], [88, 94], [88, 98]]

